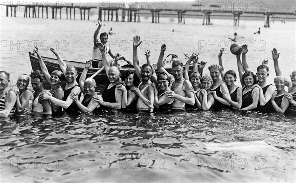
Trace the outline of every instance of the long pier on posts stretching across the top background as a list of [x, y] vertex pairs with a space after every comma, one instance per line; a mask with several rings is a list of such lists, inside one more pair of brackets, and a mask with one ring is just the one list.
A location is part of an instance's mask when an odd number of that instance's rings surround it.
[[[142, 3], [142, 2], [141, 2]], [[285, 23], [285, 18], [279, 17], [279, 15], [296, 15], [296, 12], [271, 12], [267, 11], [251, 11], [248, 9], [242, 10], [223, 10], [217, 4], [212, 4], [208, 7], [201, 7], [201, 4], [192, 4], [191, 7], [182, 7], [179, 6], [146, 6], [143, 7], [143, 4], [139, 2], [135, 3], [122, 3], [120, 5], [114, 5], [111, 3], [98, 3], [98, 6], [77, 6], [73, 3], [67, 4], [1, 4], [2, 6], [6, 6], [6, 16], [16, 17], [16, 12], [18, 6], [22, 6], [24, 9], [24, 17], [31, 17], [32, 10], [32, 18], [48, 18], [48, 12], [51, 9], [51, 18], [57, 19], [57, 14], [59, 13], [59, 18], [62, 19], [62, 11], [66, 12], [66, 19], [75, 19], [76, 9], [80, 11], [80, 19], [81, 20], [89, 20], [90, 9], [98, 9], [98, 17], [101, 17], [103, 21], [119, 21], [119, 11], [121, 11], [121, 21], [122, 22], [140, 22], [140, 14], [148, 14], [152, 17], [152, 23], [159, 23], [160, 15], [176, 15], [178, 17], [178, 24], [185, 24], [185, 13], [186, 16], [202, 16], [202, 24], [203, 25], [212, 25], [210, 18], [212, 16], [233, 16], [233, 26], [239, 26], [240, 17], [242, 14], [249, 14], [244, 17], [258, 17], [250, 14], [261, 14], [265, 17], [264, 27], [270, 27], [271, 17], [279, 18], [282, 22]], [[41, 12], [40, 12], [41, 9]], [[62, 10], [63, 9], [63, 10]], [[38, 10], [38, 12], [37, 12]], [[103, 15], [104, 11], [104, 15]], [[73, 13], [72, 13], [73, 12]], [[85, 17], [85, 13], [87, 12], [87, 18]], [[168, 13], [169, 12], [169, 13]], [[37, 15], [38, 13], [38, 15]], [[46, 14], [45, 14], [46, 13]], [[115, 16], [114, 16], [115, 13]], [[197, 13], [197, 14], [192, 14]], [[222, 15], [227, 13], [227, 15]], [[40, 16], [42, 14], [42, 17]], [[214, 15], [216, 14], [216, 15]], [[68, 16], [69, 15], [69, 16]], [[104, 18], [103, 18], [104, 17]], [[294, 18], [295, 19], [295, 18]]]

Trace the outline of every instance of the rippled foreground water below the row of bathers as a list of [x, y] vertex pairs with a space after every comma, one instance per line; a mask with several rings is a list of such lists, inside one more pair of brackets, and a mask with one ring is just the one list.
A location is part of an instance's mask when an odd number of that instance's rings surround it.
[[258, 112], [1, 119], [1, 182], [293, 182], [295, 117]]

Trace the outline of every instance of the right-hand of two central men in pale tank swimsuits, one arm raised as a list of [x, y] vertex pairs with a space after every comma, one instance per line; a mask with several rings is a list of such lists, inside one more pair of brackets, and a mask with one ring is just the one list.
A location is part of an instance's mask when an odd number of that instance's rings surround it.
[[190, 81], [183, 78], [183, 64], [180, 61], [173, 61], [172, 74], [169, 74], [163, 67], [163, 56], [166, 50], [166, 45], [161, 45], [161, 51], [157, 62], [159, 72], [166, 73], [170, 78], [170, 89], [165, 95], [170, 98], [175, 98], [172, 109], [184, 109], [185, 104], [194, 105], [194, 93], [190, 91], [192, 85]]

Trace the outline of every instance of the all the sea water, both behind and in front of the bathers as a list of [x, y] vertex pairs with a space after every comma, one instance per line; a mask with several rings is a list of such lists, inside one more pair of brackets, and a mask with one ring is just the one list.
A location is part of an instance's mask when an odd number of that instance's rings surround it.
[[[37, 43], [40, 53], [54, 57], [53, 47], [66, 60], [91, 58], [96, 16], [90, 21], [5, 17], [1, 12], [0, 67], [16, 80], [30, 73], [28, 51]], [[50, 16], [49, 16], [50, 17]], [[280, 54], [282, 73], [296, 68], [296, 23], [271, 23], [212, 19], [160, 18], [160, 24], [142, 17], [141, 23], [104, 22], [113, 28], [111, 50], [132, 60], [132, 38], [144, 41], [156, 63], [162, 43], [169, 53], [185, 62], [184, 53], [199, 52], [200, 61], [217, 63], [219, 48], [225, 69], [236, 68], [228, 37], [234, 32], [249, 45], [247, 60], [255, 72], [269, 59], [275, 77], [271, 49]], [[261, 27], [261, 35], [253, 32]], [[174, 29], [174, 32], [172, 32]], [[225, 44], [227, 43], [227, 44]], [[142, 50], [141, 50], [142, 49]], [[209, 74], [207, 69], [204, 74]], [[14, 83], [13, 88], [16, 88]], [[194, 111], [169, 113], [116, 112], [43, 117], [37, 114], [1, 119], [1, 182], [295, 182], [296, 118], [279, 114], [241, 111]]]

